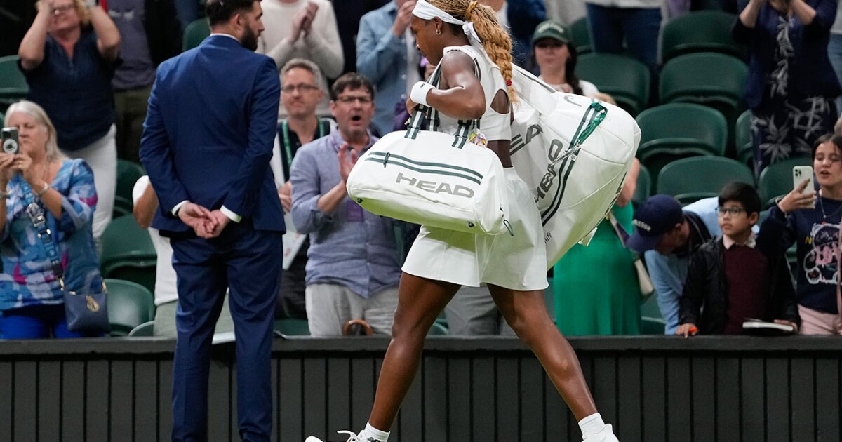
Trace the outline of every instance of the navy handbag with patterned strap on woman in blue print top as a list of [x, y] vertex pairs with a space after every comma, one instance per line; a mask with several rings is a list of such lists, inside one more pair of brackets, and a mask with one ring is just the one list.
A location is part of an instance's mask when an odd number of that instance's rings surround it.
[[64, 269], [61, 268], [61, 259], [56, 250], [56, 243], [53, 242], [50, 229], [47, 228], [47, 219], [44, 209], [35, 202], [32, 188], [24, 179], [20, 180], [21, 189], [24, 191], [26, 201], [26, 215], [32, 221], [38, 239], [44, 245], [47, 257], [50, 258], [51, 269], [56, 274], [56, 279], [61, 285], [61, 293], [64, 296], [64, 313], [67, 317], [67, 329], [71, 332], [98, 335], [109, 333], [111, 326], [108, 318], [108, 306], [106, 296], [108, 290], [103, 282], [103, 290], [99, 293], [83, 294], [68, 290], [64, 285]]

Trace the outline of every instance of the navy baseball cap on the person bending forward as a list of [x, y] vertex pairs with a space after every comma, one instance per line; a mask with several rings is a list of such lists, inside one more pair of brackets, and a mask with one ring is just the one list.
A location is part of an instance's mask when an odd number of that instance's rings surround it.
[[634, 233], [626, 241], [626, 246], [639, 253], [652, 250], [664, 233], [682, 221], [684, 212], [678, 200], [667, 194], [653, 195], [635, 210], [632, 220]]

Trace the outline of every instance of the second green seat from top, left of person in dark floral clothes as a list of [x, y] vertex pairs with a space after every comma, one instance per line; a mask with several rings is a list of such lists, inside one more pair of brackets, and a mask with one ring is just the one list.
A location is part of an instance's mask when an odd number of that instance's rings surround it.
[[660, 103], [696, 103], [717, 109], [727, 122], [727, 146], [733, 146], [732, 128], [745, 110], [748, 75], [749, 68], [735, 56], [715, 52], [677, 56], [661, 70]]

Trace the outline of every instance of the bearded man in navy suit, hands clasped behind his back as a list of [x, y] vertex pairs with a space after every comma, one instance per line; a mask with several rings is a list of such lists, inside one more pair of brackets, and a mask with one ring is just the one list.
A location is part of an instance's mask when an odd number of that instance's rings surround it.
[[209, 0], [211, 35], [164, 61], [149, 98], [141, 162], [171, 238], [178, 274], [173, 441], [207, 440], [210, 343], [223, 297], [237, 336], [240, 437], [269, 441], [269, 353], [285, 231], [269, 169], [278, 69], [255, 54], [258, 0]]

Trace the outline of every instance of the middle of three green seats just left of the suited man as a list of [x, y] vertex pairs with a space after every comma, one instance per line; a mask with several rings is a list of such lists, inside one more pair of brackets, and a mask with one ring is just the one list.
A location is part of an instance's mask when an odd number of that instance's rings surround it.
[[120, 216], [105, 226], [99, 245], [99, 269], [104, 278], [120, 276], [154, 292], [157, 254], [149, 232], [138, 226], [133, 216]]

